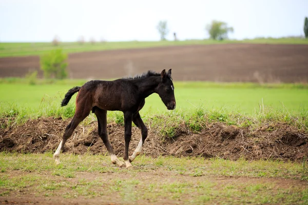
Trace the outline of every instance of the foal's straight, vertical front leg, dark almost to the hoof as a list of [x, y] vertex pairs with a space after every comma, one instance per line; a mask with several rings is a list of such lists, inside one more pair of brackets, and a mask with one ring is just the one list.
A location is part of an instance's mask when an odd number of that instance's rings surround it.
[[129, 162], [128, 158], [128, 147], [129, 147], [129, 142], [131, 138], [131, 121], [132, 121], [132, 113], [131, 112], [125, 112], [124, 113], [124, 126], [125, 126], [125, 149], [124, 149], [124, 162], [126, 165], [126, 168], [130, 167], [131, 164]]

